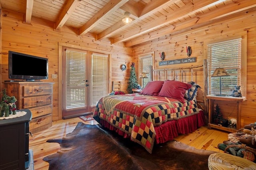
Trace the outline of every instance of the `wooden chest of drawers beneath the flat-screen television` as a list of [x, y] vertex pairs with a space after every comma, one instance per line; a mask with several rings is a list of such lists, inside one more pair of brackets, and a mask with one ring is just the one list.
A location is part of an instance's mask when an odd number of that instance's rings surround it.
[[17, 109], [30, 109], [30, 132], [52, 126], [53, 84], [48, 82], [4, 82], [8, 96], [15, 96]]

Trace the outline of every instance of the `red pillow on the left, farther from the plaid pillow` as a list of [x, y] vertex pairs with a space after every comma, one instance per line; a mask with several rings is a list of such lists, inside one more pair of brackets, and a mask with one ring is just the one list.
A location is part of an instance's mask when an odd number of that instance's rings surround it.
[[141, 90], [139, 94], [149, 95], [149, 96], [158, 96], [164, 81], [152, 81], [148, 82], [144, 89]]

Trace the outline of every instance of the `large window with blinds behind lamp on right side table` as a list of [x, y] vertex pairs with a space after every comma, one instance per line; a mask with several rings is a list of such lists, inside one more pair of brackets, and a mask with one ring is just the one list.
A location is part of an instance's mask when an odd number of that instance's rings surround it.
[[[230, 95], [234, 86], [241, 84], [242, 39], [208, 45], [209, 93]], [[216, 68], [225, 68], [230, 76], [211, 77]], [[221, 78], [221, 84], [220, 84]]]

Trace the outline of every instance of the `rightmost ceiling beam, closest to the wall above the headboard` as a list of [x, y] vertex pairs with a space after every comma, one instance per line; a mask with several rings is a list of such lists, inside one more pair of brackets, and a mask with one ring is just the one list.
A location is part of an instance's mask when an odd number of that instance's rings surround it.
[[[225, 7], [218, 8], [217, 10], [214, 10], [207, 14], [196, 16], [194, 18], [191, 18], [191, 20], [173, 25], [173, 27], [166, 27], [164, 29], [160, 29], [159, 31], [155, 31], [147, 35], [131, 39], [125, 43], [125, 47], [132, 47], [134, 45], [138, 45], [146, 41], [151, 41], [153, 39], [157, 39], [165, 35], [176, 35], [187, 31], [191, 31], [209, 25], [211, 23], [226, 20], [228, 17], [230, 17], [230, 15], [241, 15], [243, 12], [247, 12], [247, 10], [256, 10], [256, 4], [227, 4]], [[220, 18], [219, 16], [222, 16], [222, 18]]]

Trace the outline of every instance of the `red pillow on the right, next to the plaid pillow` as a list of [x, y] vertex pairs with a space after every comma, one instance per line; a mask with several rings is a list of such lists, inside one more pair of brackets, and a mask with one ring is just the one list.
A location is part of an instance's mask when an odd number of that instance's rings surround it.
[[184, 95], [186, 90], [191, 88], [191, 84], [179, 82], [175, 80], [166, 80], [162, 86], [158, 96], [174, 98], [185, 103]]

